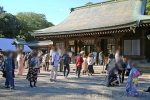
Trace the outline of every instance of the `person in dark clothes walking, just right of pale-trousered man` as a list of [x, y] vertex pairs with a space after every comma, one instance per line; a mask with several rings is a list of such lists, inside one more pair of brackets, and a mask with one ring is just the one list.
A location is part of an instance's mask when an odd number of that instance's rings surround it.
[[[69, 59], [70, 58], [69, 58], [68, 52], [64, 53], [62, 58], [64, 60], [64, 77], [67, 78], [68, 74], [70, 72], [70, 66], [69, 66], [69, 63], [70, 63]], [[67, 73], [66, 73], [66, 70], [67, 70]]]

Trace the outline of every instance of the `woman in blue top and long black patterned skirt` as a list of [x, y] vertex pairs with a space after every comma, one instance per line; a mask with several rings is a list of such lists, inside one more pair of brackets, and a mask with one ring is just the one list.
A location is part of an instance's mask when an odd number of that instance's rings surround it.
[[29, 71], [27, 74], [27, 79], [30, 82], [30, 87], [36, 87], [37, 75], [40, 67], [40, 60], [36, 51], [33, 52], [32, 57], [33, 58], [29, 61]]

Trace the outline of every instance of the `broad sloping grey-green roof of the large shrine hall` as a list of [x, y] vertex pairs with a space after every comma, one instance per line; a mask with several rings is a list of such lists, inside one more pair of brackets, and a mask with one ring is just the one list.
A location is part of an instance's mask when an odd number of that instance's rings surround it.
[[73, 8], [60, 24], [36, 30], [33, 36], [71, 34], [130, 27], [137, 22], [150, 21], [144, 15], [146, 0], [117, 0]]

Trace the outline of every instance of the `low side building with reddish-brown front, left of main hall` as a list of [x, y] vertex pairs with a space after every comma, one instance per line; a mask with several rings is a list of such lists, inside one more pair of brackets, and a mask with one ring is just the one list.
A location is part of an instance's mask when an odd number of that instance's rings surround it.
[[27, 45], [32, 49], [42, 50], [43, 52], [48, 51], [53, 47], [53, 41], [34, 41], [27, 42]]

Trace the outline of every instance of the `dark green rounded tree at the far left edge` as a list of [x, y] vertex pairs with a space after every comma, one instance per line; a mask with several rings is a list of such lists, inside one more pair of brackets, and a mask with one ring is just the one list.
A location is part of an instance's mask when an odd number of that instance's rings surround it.
[[0, 14], [0, 37], [14, 38], [19, 33], [20, 22], [9, 13]]

